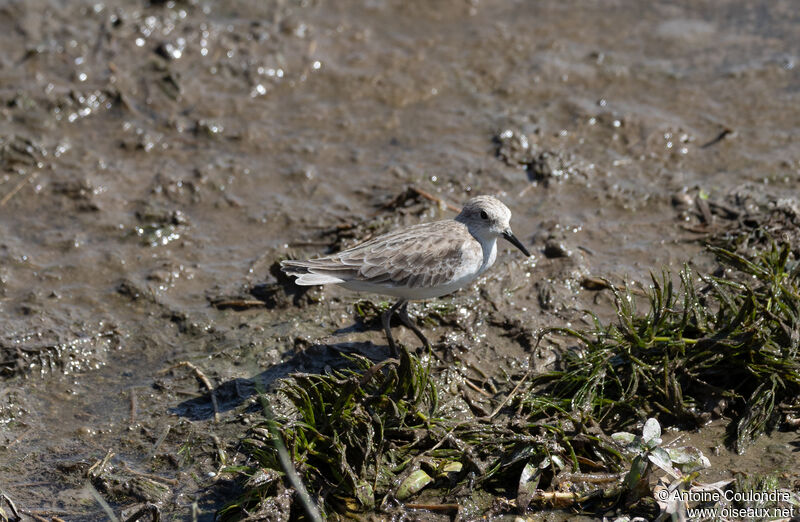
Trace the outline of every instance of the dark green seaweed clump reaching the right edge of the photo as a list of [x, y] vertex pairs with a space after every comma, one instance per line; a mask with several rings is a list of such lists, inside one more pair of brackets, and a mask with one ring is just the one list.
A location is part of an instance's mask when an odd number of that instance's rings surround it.
[[738, 453], [774, 429], [800, 404], [800, 263], [789, 245], [773, 244], [748, 259], [711, 247], [722, 270], [684, 268], [652, 276], [649, 309], [633, 293], [612, 289], [617, 320], [594, 328], [553, 328], [578, 340], [562, 367], [536, 376], [524, 397], [533, 417], [572, 411], [603, 428], [625, 428], [658, 416], [699, 427], [729, 415]]

